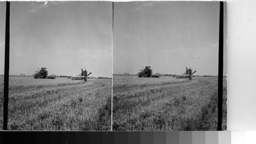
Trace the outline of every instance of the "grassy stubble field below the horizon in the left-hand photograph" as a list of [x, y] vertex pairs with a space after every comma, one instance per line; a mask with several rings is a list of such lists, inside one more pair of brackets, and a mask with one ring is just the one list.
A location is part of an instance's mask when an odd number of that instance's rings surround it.
[[[111, 81], [10, 76], [8, 130], [110, 130]], [[3, 76], [0, 88], [3, 129]]]

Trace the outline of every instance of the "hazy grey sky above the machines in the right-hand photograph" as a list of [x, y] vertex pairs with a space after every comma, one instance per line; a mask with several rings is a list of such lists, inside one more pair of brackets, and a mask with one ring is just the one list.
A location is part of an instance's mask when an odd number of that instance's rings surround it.
[[[218, 75], [219, 2], [114, 3], [113, 73]], [[226, 75], [226, 4], [224, 5]]]

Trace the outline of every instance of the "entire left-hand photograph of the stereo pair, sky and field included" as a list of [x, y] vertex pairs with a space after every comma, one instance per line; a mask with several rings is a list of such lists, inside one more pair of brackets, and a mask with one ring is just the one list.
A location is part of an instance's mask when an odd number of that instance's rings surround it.
[[110, 131], [111, 85], [112, 2], [10, 2], [8, 130]]

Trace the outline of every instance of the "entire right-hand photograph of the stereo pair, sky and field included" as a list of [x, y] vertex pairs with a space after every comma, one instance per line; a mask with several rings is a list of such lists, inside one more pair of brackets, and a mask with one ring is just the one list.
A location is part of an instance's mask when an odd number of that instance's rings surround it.
[[220, 2], [113, 3], [113, 131], [217, 130], [219, 27]]

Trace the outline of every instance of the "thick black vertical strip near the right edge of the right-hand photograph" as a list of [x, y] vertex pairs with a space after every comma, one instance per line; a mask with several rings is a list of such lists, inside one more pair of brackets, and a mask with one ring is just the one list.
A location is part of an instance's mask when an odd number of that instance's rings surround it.
[[222, 130], [223, 104], [223, 2], [220, 2], [220, 29], [219, 29], [219, 76], [218, 76], [218, 131]]

